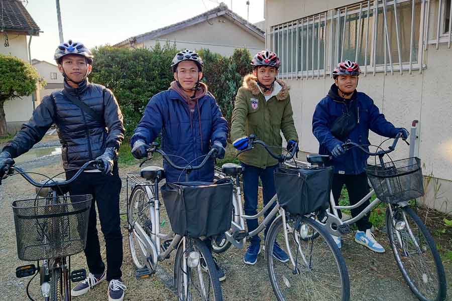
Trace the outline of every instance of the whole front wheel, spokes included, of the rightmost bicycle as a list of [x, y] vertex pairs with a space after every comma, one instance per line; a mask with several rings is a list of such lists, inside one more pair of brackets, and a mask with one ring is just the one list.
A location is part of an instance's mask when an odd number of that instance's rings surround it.
[[421, 301], [442, 301], [446, 297], [444, 267], [435, 242], [409, 207], [386, 210], [386, 229], [397, 265], [411, 291]]

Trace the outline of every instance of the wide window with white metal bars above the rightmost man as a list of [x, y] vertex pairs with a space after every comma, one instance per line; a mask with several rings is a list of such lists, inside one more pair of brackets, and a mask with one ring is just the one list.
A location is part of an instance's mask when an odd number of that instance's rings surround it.
[[[450, 0], [447, 1], [450, 6]], [[420, 70], [428, 0], [362, 1], [271, 28], [268, 48], [281, 58], [283, 78], [331, 76], [338, 62], [362, 72]]]

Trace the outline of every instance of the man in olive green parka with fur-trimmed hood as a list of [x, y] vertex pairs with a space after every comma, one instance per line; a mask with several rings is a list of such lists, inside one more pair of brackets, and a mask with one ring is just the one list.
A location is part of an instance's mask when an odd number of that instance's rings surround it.
[[[249, 135], [255, 134], [269, 145], [282, 146], [281, 131], [287, 140], [287, 150], [298, 148], [298, 134], [293, 121], [289, 87], [278, 80], [280, 60], [268, 50], [257, 53], [251, 61], [253, 73], [243, 79], [243, 87], [236, 96], [231, 126], [231, 139], [234, 147], [243, 150], [248, 147]], [[280, 150], [279, 150], [280, 151]], [[277, 152], [277, 149], [274, 149]], [[259, 178], [262, 181], [264, 206], [276, 194], [273, 173], [278, 161], [265, 149], [254, 148], [239, 156], [243, 173], [243, 191], [245, 214], [256, 215], [258, 203]], [[273, 206], [265, 212], [265, 216]], [[270, 225], [270, 224], [269, 224]], [[247, 220], [248, 231], [258, 227], [258, 220]], [[264, 231], [267, 234], [268, 227]], [[243, 258], [246, 264], [254, 265], [261, 251], [258, 235], [251, 238], [250, 246]], [[281, 262], [289, 257], [277, 243], [273, 247], [273, 256]]]

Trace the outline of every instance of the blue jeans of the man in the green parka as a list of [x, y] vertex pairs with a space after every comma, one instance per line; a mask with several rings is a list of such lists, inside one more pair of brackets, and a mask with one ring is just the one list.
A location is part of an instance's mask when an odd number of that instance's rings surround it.
[[[258, 203], [258, 187], [259, 178], [262, 181], [263, 188], [263, 201], [264, 207], [276, 194], [275, 182], [274, 182], [274, 172], [278, 165], [269, 166], [265, 169], [257, 168], [251, 165], [246, 165], [242, 162], [242, 166], [245, 168], [243, 172], [243, 194], [245, 198], [245, 214], [246, 215], [256, 215], [257, 214], [257, 203]], [[276, 202], [264, 213], [264, 216], [272, 211], [275, 207]], [[274, 218], [273, 218], [274, 219]], [[267, 236], [267, 231], [273, 220], [270, 221], [264, 230], [264, 239]], [[248, 232], [255, 230], [259, 223], [257, 219], [247, 220]], [[260, 243], [261, 238], [259, 235], [251, 237], [251, 243]]]

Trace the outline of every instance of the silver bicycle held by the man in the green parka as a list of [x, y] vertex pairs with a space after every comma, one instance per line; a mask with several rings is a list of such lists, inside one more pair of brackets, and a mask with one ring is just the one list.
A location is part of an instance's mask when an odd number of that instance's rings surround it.
[[[257, 140], [255, 135], [250, 135], [250, 146], [246, 150], [255, 145], [264, 147], [270, 156], [278, 160], [280, 165], [293, 159], [296, 152], [296, 149], [293, 149], [292, 153], [285, 156], [276, 155], [270, 150], [272, 146]], [[235, 188], [232, 226], [229, 231], [224, 233], [225, 239], [219, 243], [218, 241], [212, 242], [214, 251], [224, 252], [231, 245], [240, 249], [244, 248], [247, 238], [258, 235], [275, 218], [267, 233], [265, 255], [270, 282], [277, 299], [279, 301], [349, 300], [350, 280], [345, 260], [331, 235], [315, 218], [324, 213], [320, 210], [301, 215], [291, 214], [281, 206], [284, 200], [278, 200], [275, 195], [258, 214], [245, 215], [240, 187], [242, 172], [243, 168], [236, 164], [224, 164], [221, 172], [216, 170], [217, 179], [232, 178], [235, 180]], [[273, 204], [275, 207], [258, 228], [247, 232], [245, 220], [261, 217]], [[315, 239], [307, 238], [313, 232], [317, 233]], [[288, 254], [288, 262], [281, 262], [273, 256], [275, 243]]]

